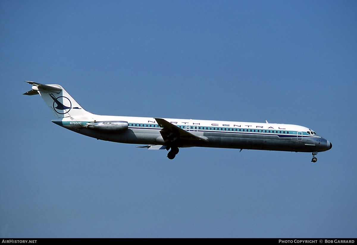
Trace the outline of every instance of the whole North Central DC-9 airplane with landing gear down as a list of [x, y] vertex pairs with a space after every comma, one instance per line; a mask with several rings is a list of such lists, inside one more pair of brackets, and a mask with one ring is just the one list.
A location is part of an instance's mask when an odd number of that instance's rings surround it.
[[243, 149], [312, 152], [311, 162], [316, 162], [318, 152], [332, 148], [331, 142], [315, 131], [291, 124], [96, 115], [84, 110], [60, 85], [25, 82], [32, 85], [32, 90], [24, 94], [40, 94], [56, 116], [53, 123], [97, 140], [170, 150], [167, 157], [171, 160], [179, 148], [213, 147], [235, 148], [240, 152]]

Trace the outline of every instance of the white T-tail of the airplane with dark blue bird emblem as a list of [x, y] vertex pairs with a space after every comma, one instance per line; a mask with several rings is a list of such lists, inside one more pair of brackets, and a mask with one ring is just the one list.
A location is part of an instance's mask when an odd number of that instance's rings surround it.
[[84, 110], [75, 101], [69, 93], [57, 84], [40, 84], [30, 81], [25, 81], [32, 85], [32, 90], [24, 93], [25, 95], [40, 94], [51, 111], [58, 119], [75, 118], [76, 120], [85, 120], [92, 118], [93, 114]]

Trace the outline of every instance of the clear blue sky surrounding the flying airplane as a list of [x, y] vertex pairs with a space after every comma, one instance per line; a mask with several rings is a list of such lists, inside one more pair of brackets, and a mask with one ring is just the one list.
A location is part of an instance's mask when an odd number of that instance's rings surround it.
[[[355, 1], [0, 2], [1, 237], [356, 237]], [[310, 153], [104, 142], [32, 80], [103, 115], [307, 126]], [[9, 89], [7, 89], [9, 88]]]

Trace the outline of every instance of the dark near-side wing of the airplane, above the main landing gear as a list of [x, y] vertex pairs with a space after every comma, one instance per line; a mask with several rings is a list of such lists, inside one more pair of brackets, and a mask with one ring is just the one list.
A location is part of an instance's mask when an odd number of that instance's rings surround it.
[[[159, 124], [162, 129], [160, 134], [165, 142], [172, 142], [181, 140], [181, 141], [204, 141], [208, 142], [208, 139], [203, 136], [197, 136], [191, 134], [190, 132], [177, 127], [176, 125], [169, 123], [165, 119], [155, 118], [157, 124]], [[206, 139], [205, 139], [206, 138]]]

